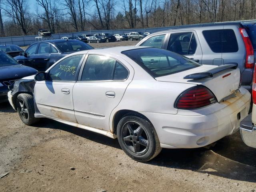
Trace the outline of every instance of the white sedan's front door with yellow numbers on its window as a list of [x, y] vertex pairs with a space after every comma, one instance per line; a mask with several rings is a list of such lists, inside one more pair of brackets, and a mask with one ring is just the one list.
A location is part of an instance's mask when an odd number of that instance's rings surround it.
[[76, 122], [72, 91], [83, 58], [76, 54], [62, 59], [50, 68], [45, 81], [36, 82], [34, 96], [40, 114]]

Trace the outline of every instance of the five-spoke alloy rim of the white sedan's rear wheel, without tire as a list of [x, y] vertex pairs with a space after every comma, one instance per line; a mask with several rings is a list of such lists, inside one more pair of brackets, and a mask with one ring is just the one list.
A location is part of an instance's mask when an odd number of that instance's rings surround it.
[[122, 140], [130, 152], [143, 155], [149, 148], [148, 134], [138, 122], [129, 121], [122, 127]]

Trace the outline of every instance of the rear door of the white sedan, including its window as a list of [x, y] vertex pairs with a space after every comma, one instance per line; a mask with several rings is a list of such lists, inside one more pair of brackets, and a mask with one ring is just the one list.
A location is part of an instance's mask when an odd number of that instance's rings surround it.
[[134, 74], [130, 64], [121, 58], [118, 60], [104, 55], [87, 56], [79, 81], [73, 88], [74, 110], [79, 124], [110, 131], [110, 114]]

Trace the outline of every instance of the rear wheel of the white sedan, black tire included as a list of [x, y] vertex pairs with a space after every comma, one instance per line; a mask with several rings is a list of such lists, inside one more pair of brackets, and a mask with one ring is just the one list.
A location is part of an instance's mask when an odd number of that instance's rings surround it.
[[133, 160], [146, 162], [162, 150], [151, 122], [135, 114], [127, 114], [117, 125], [118, 142]]

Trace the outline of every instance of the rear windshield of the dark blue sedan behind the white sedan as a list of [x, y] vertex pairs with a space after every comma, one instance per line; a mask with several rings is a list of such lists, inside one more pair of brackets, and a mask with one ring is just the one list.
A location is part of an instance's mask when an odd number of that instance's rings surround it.
[[63, 52], [82, 51], [93, 49], [92, 46], [81, 41], [56, 42]]

